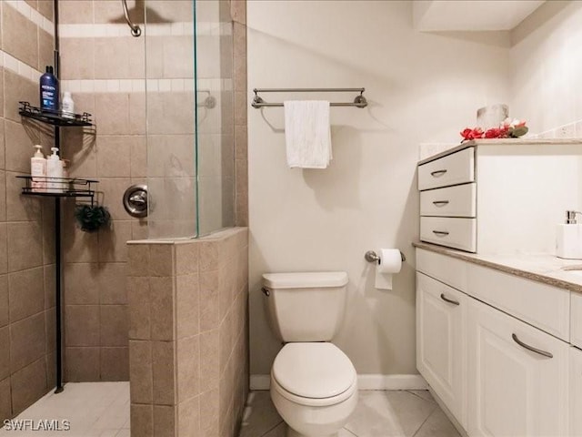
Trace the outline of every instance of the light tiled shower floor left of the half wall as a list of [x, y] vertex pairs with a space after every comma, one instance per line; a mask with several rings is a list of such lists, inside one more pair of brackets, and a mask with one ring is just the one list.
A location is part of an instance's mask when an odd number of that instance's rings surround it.
[[[0, 436], [13, 437], [130, 437], [129, 382], [69, 382], [65, 391], [50, 391], [20, 413], [14, 420], [70, 422], [70, 431], [7, 431]], [[14, 421], [13, 420], [13, 421]]]

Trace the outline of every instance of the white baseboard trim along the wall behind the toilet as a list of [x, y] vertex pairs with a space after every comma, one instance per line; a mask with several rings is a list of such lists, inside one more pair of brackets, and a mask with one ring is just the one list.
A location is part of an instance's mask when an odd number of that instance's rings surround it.
[[[270, 375], [251, 375], [251, 390], [269, 390]], [[359, 390], [426, 390], [428, 384], [421, 375], [380, 375], [363, 373], [357, 375]]]

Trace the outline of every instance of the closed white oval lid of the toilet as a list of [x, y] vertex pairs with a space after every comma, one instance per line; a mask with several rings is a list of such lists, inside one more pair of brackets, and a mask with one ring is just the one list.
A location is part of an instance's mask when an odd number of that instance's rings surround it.
[[287, 343], [273, 363], [279, 385], [303, 398], [331, 398], [356, 381], [356, 369], [332, 343]]

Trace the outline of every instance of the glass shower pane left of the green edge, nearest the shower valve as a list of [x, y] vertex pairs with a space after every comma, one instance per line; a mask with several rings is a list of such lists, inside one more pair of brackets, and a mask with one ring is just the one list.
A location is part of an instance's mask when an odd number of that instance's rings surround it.
[[148, 238], [196, 237], [196, 11], [146, 1]]

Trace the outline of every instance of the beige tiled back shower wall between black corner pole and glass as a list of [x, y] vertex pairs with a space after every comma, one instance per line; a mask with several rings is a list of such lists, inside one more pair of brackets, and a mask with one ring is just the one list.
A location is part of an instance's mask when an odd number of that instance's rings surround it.
[[146, 97], [144, 38], [129, 34], [122, 14], [120, 2], [59, 2], [61, 88], [95, 123], [67, 130], [62, 155], [71, 176], [99, 180], [113, 219], [111, 229], [85, 233], [73, 202], [65, 208], [65, 381], [128, 379], [125, 242], [146, 238], [146, 223], [121, 199], [146, 182]]

